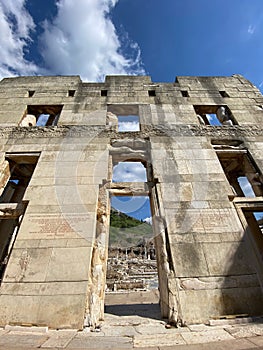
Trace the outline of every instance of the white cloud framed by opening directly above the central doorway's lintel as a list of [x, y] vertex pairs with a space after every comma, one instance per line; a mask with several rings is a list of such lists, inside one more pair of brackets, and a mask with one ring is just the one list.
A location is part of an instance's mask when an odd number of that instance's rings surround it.
[[114, 182], [146, 182], [146, 170], [140, 162], [120, 162], [113, 167]]

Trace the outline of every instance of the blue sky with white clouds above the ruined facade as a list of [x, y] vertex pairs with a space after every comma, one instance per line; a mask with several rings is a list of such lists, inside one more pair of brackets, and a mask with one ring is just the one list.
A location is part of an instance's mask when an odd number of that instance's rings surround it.
[[0, 78], [242, 74], [263, 91], [263, 0], [0, 0], [0, 32]]

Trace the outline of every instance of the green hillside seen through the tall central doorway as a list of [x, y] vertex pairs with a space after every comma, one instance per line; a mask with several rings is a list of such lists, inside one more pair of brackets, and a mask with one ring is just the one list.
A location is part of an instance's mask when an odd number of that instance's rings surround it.
[[152, 226], [127, 214], [111, 209], [110, 214], [110, 246], [128, 248], [135, 247], [143, 240], [153, 237]]

